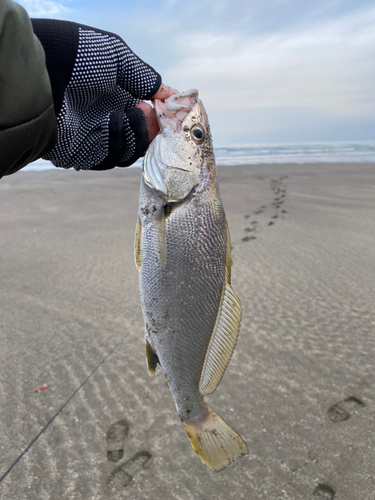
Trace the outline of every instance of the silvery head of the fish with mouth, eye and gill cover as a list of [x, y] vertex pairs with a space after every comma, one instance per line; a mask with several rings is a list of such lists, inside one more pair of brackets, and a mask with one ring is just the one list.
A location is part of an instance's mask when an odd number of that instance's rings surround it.
[[156, 99], [154, 107], [160, 132], [147, 150], [144, 180], [166, 202], [179, 202], [198, 185], [212, 151], [207, 114], [196, 89]]

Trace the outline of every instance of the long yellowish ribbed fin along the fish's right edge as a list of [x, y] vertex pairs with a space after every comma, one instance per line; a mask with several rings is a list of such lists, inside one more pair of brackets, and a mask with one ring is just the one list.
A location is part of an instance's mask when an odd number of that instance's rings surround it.
[[230, 248], [227, 226], [226, 280], [199, 382], [201, 394], [211, 394], [219, 385], [232, 357], [240, 329], [241, 303], [230, 285]]

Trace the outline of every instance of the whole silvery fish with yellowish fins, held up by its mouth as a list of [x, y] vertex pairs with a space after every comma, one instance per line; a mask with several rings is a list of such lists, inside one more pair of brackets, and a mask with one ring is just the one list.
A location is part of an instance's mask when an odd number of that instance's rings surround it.
[[242, 315], [228, 224], [198, 90], [153, 104], [160, 132], [143, 161], [135, 236], [148, 372], [164, 372], [193, 449], [220, 471], [248, 453], [204, 401], [232, 357]]

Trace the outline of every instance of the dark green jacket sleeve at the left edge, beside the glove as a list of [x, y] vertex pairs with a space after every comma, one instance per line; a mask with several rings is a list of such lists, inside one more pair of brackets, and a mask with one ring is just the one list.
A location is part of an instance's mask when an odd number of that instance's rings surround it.
[[0, 178], [50, 151], [57, 138], [43, 48], [26, 11], [0, 0]]

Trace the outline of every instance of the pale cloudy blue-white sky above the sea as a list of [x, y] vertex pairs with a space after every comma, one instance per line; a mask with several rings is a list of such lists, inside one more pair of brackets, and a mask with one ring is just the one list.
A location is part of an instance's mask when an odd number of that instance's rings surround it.
[[180, 90], [215, 145], [375, 139], [373, 0], [19, 0], [121, 35]]

